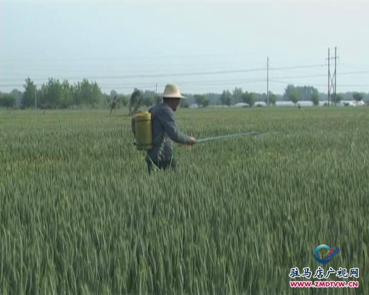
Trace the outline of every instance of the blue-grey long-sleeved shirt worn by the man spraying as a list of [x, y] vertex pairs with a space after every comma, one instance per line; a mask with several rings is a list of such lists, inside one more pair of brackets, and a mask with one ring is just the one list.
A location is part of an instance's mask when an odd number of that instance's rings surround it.
[[178, 131], [174, 120], [174, 112], [166, 103], [161, 103], [149, 110], [152, 121], [153, 148], [148, 155], [154, 161], [170, 160], [173, 152], [173, 141], [187, 143], [189, 136]]

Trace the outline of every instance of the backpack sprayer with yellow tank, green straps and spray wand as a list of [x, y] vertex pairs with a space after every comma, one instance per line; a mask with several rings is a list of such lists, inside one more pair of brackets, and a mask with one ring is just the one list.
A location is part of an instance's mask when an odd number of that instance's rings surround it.
[[[136, 139], [136, 142], [133, 144], [136, 145], [137, 150], [139, 151], [148, 151], [153, 148], [153, 136], [152, 136], [152, 121], [151, 121], [151, 113], [150, 112], [140, 112], [135, 114], [135, 116], [131, 119], [131, 128], [132, 133]], [[246, 132], [246, 133], [234, 133], [228, 135], [214, 136], [208, 138], [197, 139], [196, 143], [202, 143], [207, 141], [213, 141], [218, 139], [226, 139], [231, 137], [238, 136], [248, 136], [248, 135], [260, 135], [261, 132]], [[169, 164], [169, 168], [172, 164], [174, 149], [171, 157], [171, 161]], [[154, 165], [154, 167], [159, 170], [158, 166], [155, 165], [153, 160], [148, 155], [149, 160]]]

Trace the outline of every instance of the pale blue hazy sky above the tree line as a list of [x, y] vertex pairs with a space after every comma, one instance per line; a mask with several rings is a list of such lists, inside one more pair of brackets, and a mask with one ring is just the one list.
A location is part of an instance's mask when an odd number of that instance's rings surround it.
[[[101, 90], [282, 94], [288, 83], [369, 92], [368, 1], [2, 1], [0, 91], [48, 77]], [[334, 64], [331, 65], [332, 73]]]

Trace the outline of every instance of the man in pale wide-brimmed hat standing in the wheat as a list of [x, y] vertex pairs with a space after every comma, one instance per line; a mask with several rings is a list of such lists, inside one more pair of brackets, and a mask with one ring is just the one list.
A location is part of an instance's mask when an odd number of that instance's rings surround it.
[[153, 134], [153, 148], [148, 151], [146, 157], [149, 173], [155, 169], [155, 166], [163, 170], [168, 167], [175, 169], [176, 161], [172, 159], [172, 140], [182, 144], [196, 143], [196, 138], [184, 135], [177, 129], [174, 112], [179, 106], [180, 99], [186, 99], [186, 97], [180, 94], [178, 86], [168, 84], [163, 93], [163, 103], [149, 110], [152, 116]]

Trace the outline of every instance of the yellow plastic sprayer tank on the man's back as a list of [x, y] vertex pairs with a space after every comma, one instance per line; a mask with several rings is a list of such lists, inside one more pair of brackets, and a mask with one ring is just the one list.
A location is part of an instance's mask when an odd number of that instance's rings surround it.
[[153, 147], [151, 113], [141, 112], [136, 114], [134, 117], [134, 130], [137, 150], [151, 150]]

